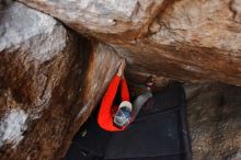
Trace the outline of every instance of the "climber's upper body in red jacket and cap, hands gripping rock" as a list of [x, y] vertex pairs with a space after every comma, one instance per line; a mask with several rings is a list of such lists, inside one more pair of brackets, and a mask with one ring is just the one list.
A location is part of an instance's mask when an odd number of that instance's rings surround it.
[[[129, 102], [129, 92], [127, 82], [124, 78], [126, 62], [122, 60], [116, 76], [112, 79], [101, 103], [97, 115], [97, 124], [101, 128], [108, 132], [124, 130], [131, 119], [131, 103]], [[120, 83], [122, 103], [119, 106], [113, 106], [113, 102]]]

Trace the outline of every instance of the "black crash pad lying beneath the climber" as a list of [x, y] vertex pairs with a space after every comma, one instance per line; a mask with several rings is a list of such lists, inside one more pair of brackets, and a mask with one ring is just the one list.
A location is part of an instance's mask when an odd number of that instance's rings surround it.
[[101, 129], [96, 114], [93, 114], [74, 137], [66, 156], [66, 160], [73, 159], [192, 160], [182, 85], [173, 84], [154, 93], [124, 132]]

